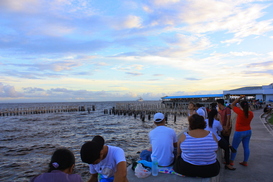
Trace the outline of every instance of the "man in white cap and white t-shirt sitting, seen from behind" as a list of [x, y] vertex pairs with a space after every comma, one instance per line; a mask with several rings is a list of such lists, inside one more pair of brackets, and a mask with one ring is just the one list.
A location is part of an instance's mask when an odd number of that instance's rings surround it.
[[149, 139], [151, 149], [143, 150], [140, 158], [151, 162], [151, 155], [156, 156], [159, 166], [170, 166], [175, 159], [177, 136], [173, 129], [166, 127], [165, 116], [162, 113], [154, 115], [156, 128], [150, 131]]

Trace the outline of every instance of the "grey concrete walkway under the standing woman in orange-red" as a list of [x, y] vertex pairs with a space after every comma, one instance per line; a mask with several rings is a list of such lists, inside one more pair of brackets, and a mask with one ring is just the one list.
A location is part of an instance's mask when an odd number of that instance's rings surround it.
[[[239, 164], [243, 161], [243, 146], [239, 145], [234, 161], [235, 171], [223, 169], [220, 173], [221, 182], [272, 182], [273, 181], [273, 131], [264, 118], [260, 118], [263, 110], [254, 111], [251, 122], [252, 136], [250, 139], [250, 157], [248, 166]], [[233, 118], [233, 122], [235, 117]], [[234, 126], [234, 125], [233, 125]], [[231, 135], [230, 141], [232, 142]]]

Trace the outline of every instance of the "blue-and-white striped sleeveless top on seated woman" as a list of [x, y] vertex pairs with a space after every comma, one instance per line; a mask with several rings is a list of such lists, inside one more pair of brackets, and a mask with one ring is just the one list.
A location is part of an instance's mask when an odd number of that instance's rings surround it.
[[203, 138], [194, 138], [187, 132], [186, 139], [180, 144], [182, 159], [193, 165], [209, 165], [216, 162], [217, 142], [212, 132]]

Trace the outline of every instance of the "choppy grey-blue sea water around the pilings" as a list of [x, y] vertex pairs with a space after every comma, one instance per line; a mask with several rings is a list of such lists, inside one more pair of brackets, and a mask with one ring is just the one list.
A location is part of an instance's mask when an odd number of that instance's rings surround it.
[[[89, 167], [80, 159], [80, 148], [93, 136], [101, 135], [105, 144], [121, 147], [125, 151], [127, 164], [138, 159], [137, 152], [149, 147], [148, 133], [155, 126], [147, 117], [144, 122], [139, 115], [124, 116], [104, 114], [117, 102], [82, 103], [28, 103], [0, 104], [5, 108], [51, 107], [51, 106], [93, 106], [88, 113], [62, 112], [18, 116], [0, 116], [0, 181], [29, 181], [35, 175], [46, 172], [55, 149], [67, 147], [76, 157], [75, 173], [83, 180], [90, 177]], [[184, 116], [168, 117], [168, 127], [180, 133], [187, 126]]]

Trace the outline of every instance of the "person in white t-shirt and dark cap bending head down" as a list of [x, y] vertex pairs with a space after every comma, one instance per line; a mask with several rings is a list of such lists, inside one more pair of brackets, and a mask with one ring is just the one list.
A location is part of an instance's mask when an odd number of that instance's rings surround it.
[[81, 147], [82, 162], [89, 164], [88, 182], [128, 182], [124, 151], [119, 147], [104, 145], [97, 135]]

